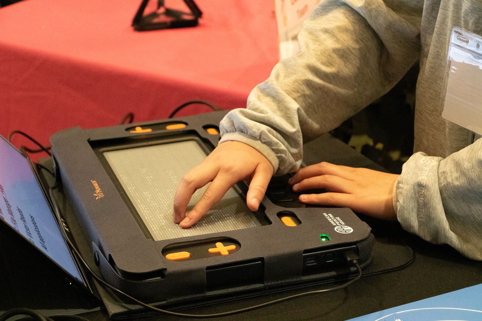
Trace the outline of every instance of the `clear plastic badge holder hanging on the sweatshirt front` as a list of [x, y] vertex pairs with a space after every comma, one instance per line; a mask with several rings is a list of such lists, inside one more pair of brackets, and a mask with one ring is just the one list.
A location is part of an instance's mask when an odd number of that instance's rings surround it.
[[442, 117], [482, 135], [482, 38], [452, 29], [440, 105]]

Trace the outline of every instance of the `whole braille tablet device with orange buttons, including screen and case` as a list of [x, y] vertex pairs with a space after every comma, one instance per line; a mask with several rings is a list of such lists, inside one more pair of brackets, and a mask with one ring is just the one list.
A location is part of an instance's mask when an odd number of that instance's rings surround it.
[[[260, 208], [239, 182], [197, 222], [173, 221], [186, 172], [219, 141], [226, 111], [51, 137], [54, 173], [107, 282], [148, 302], [276, 291], [356, 271], [371, 261], [370, 227], [348, 208], [307, 206], [275, 177]], [[205, 188], [198, 190], [188, 210]]]

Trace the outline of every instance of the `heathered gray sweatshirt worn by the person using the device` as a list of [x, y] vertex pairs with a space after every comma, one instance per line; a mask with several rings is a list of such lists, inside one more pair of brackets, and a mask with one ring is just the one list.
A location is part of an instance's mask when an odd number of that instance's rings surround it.
[[454, 26], [480, 35], [481, 1], [321, 0], [299, 33], [299, 53], [254, 88], [246, 109], [223, 119], [220, 142], [253, 146], [277, 174], [294, 171], [303, 142], [336, 128], [419, 61], [415, 154], [394, 208], [405, 230], [482, 260], [482, 139], [439, 111]]

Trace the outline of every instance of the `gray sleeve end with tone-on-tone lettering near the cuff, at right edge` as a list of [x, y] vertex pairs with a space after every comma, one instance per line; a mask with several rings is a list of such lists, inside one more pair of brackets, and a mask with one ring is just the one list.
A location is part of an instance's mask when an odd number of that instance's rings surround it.
[[403, 229], [482, 260], [482, 139], [444, 159], [412, 155], [394, 195]]

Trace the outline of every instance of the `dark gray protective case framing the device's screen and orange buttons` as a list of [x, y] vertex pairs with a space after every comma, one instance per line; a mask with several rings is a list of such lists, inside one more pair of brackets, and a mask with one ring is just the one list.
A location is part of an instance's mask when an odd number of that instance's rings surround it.
[[[101, 162], [99, 146], [138, 146], [195, 136], [211, 151], [219, 141], [217, 124], [226, 113], [108, 128], [75, 127], [51, 137], [56, 178], [92, 244], [92, 256], [105, 280], [138, 299], [169, 303], [347, 275], [356, 270], [343, 259], [348, 251], [355, 251], [362, 267], [367, 266], [374, 237], [348, 208], [284, 207], [265, 197], [260, 210], [253, 213], [264, 221], [261, 226], [161, 241], [143, 231], [134, 206]], [[183, 128], [166, 129], [170, 125]], [[131, 132], [134, 128], [139, 132]], [[143, 132], [147, 128], [151, 131]], [[94, 195], [92, 181], [104, 197]], [[247, 186], [240, 182], [238, 187], [243, 197]], [[285, 225], [282, 217], [291, 218], [296, 226]], [[217, 242], [234, 244], [236, 250], [200, 259], [165, 257], [180, 251], [195, 256]]]

